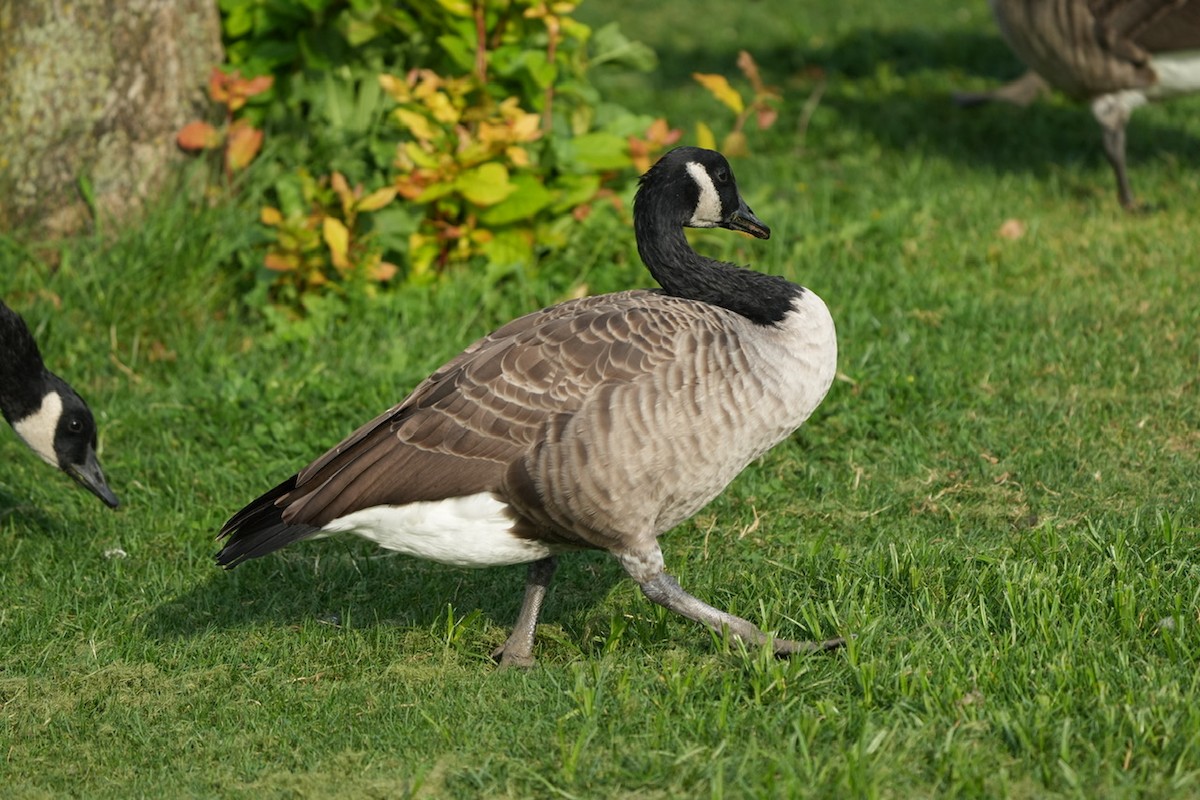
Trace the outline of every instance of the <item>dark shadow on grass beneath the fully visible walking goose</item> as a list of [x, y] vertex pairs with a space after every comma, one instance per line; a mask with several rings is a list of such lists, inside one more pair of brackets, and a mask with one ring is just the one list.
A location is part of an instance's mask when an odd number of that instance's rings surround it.
[[[268, 622], [317, 620], [355, 628], [377, 625], [428, 630], [476, 609], [502, 628], [516, 620], [524, 596], [524, 565], [466, 570], [388, 553], [365, 542], [305, 542], [224, 571], [160, 603], [139, 620], [155, 638]], [[582, 638], [595, 606], [624, 578], [602, 553], [566, 554], [551, 583], [541, 622]]]

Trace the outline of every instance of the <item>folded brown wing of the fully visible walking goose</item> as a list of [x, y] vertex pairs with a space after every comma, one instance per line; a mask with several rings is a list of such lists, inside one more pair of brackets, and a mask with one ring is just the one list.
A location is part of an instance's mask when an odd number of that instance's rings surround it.
[[305, 468], [276, 501], [282, 522], [320, 527], [356, 509], [499, 491], [509, 465], [600, 384], [670, 360], [685, 306], [626, 291], [509, 323]]

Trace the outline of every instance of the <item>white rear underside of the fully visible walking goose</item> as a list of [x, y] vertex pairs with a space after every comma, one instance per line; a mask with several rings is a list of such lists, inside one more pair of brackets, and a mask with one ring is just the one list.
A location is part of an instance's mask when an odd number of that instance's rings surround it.
[[505, 509], [487, 492], [373, 506], [335, 519], [322, 534], [355, 534], [389, 551], [454, 566], [528, 564], [553, 553], [544, 542], [514, 534]]

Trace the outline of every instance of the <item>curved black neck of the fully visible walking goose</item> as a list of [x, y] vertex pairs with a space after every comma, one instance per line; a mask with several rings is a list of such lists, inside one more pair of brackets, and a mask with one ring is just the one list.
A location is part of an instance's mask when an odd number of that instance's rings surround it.
[[634, 215], [637, 253], [668, 295], [698, 300], [742, 314], [758, 325], [775, 325], [804, 289], [776, 275], [764, 275], [694, 251], [679, 224], [652, 215]]

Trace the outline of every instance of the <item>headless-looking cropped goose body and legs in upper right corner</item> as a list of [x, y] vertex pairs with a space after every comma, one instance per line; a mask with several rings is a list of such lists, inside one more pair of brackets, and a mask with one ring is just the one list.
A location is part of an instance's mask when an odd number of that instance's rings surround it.
[[[1126, 209], [1136, 201], [1126, 173], [1126, 124], [1152, 100], [1200, 91], [1200, 0], [989, 0], [1000, 31], [1042, 79], [1086, 100]], [[1190, 50], [1190, 52], [1189, 52]], [[1039, 90], [1026, 73], [994, 92], [964, 92], [972, 106], [1024, 106]], [[1044, 84], [1043, 84], [1044, 85]]]

